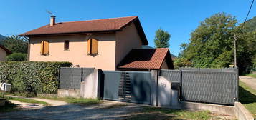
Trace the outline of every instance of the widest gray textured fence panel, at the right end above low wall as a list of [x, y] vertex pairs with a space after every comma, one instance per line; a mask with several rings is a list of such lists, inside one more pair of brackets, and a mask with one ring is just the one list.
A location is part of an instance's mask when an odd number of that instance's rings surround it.
[[182, 99], [216, 104], [234, 104], [237, 98], [237, 73], [182, 71]]

